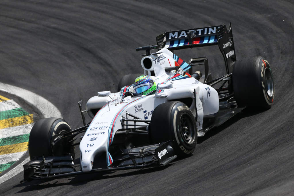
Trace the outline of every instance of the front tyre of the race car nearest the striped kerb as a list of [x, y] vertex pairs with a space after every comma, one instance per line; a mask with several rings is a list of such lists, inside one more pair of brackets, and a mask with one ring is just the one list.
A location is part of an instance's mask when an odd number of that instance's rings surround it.
[[67, 139], [59, 139], [59, 133], [71, 131], [65, 120], [61, 118], [44, 118], [37, 121], [29, 136], [29, 154], [33, 159], [37, 156], [65, 156], [74, 159], [74, 146]]

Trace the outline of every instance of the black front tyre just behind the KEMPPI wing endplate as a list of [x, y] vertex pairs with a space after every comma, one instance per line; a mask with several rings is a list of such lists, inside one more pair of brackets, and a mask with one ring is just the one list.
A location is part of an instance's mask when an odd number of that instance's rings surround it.
[[176, 155], [185, 157], [193, 153], [197, 143], [196, 121], [183, 102], [163, 103], [153, 111], [149, 135], [151, 143], [174, 140]]

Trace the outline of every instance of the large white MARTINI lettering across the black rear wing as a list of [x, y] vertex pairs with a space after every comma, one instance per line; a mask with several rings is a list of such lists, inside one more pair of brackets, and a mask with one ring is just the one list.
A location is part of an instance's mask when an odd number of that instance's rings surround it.
[[208, 27], [208, 28], [202, 28], [202, 29], [191, 29], [187, 31], [173, 31], [169, 32], [168, 38], [181, 38], [181, 37], [188, 37], [188, 32], [192, 31], [194, 35], [208, 35], [211, 33], [216, 33], [217, 26]]

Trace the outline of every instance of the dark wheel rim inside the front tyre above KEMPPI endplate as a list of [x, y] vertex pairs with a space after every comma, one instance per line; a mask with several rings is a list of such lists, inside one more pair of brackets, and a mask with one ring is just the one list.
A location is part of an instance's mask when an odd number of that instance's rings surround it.
[[183, 113], [180, 117], [180, 132], [183, 141], [191, 145], [195, 141], [194, 127], [191, 117], [187, 113]]

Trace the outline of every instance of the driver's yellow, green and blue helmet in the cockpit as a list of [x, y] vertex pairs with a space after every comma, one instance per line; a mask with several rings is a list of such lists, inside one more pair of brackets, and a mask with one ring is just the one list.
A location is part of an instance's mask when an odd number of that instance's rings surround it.
[[150, 76], [139, 76], [134, 83], [134, 93], [151, 95], [156, 91], [156, 83]]

